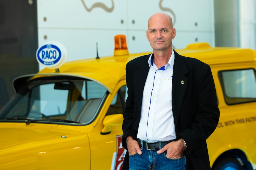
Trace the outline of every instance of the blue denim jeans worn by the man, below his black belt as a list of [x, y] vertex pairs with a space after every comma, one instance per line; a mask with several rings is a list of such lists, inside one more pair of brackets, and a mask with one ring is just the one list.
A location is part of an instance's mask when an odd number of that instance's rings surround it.
[[171, 159], [166, 157], [166, 153], [142, 149], [142, 155], [135, 153], [129, 156], [129, 170], [187, 170], [186, 156]]

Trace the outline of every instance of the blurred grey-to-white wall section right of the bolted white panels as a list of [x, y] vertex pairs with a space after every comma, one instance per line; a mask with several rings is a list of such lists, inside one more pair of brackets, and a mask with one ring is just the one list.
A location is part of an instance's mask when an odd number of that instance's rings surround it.
[[215, 45], [256, 50], [256, 1], [214, 0]]

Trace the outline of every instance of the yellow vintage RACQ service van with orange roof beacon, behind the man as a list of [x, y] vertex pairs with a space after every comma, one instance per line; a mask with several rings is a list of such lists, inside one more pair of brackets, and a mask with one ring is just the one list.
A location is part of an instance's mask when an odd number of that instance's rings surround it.
[[[78, 61], [59, 59], [65, 51], [54, 43], [38, 49], [50, 67], [17, 77], [0, 113], [1, 170], [121, 169], [125, 66], [149, 53], [129, 54], [125, 36], [115, 39], [113, 56]], [[221, 113], [207, 140], [212, 169], [256, 169], [255, 51], [208, 43], [176, 51], [211, 66]]]

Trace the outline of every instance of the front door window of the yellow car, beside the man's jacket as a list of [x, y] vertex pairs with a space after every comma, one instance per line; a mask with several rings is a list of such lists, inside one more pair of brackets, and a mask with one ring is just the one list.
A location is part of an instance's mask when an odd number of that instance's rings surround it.
[[106, 116], [111, 114], [123, 114], [125, 108], [125, 100], [126, 100], [127, 86], [122, 86], [116, 93], [113, 98]]

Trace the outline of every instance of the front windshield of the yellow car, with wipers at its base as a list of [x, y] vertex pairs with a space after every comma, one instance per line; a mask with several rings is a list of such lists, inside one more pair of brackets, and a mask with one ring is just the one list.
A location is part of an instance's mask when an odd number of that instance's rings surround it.
[[2, 109], [0, 121], [89, 124], [107, 93], [91, 80], [31, 80]]

